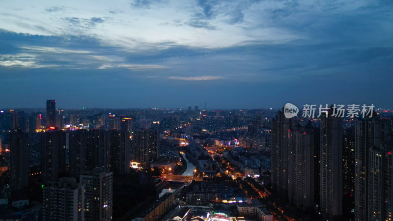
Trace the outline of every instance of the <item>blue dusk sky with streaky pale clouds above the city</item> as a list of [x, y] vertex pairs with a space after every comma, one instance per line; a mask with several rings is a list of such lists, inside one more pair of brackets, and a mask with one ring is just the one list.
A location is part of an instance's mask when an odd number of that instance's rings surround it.
[[392, 0], [0, 2], [0, 107], [393, 108]]

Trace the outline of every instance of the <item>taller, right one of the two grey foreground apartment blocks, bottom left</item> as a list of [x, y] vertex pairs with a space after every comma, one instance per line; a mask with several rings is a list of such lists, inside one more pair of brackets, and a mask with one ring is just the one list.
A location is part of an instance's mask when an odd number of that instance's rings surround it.
[[84, 171], [80, 176], [80, 182], [85, 186], [84, 220], [112, 220], [112, 172], [106, 172], [102, 168], [96, 167], [93, 170]]

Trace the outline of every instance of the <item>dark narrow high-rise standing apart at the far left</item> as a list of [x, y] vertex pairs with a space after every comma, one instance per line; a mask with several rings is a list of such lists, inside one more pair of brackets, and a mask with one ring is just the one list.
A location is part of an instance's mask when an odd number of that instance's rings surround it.
[[10, 149], [10, 187], [12, 190], [28, 187], [28, 134], [21, 130], [14, 131], [9, 139]]

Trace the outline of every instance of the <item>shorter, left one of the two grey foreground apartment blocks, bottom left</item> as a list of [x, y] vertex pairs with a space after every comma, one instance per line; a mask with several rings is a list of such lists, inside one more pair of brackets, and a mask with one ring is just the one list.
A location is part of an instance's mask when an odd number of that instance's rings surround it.
[[43, 221], [84, 221], [84, 193], [74, 178], [49, 182], [42, 190]]

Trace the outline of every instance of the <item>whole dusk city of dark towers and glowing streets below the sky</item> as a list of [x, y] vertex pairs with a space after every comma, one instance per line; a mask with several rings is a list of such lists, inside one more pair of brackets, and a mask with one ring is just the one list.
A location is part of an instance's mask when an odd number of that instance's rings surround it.
[[392, 216], [393, 111], [351, 118], [332, 106], [305, 118], [287, 114], [298, 112], [292, 104], [199, 112], [56, 110], [57, 103], [47, 100], [46, 114], [0, 111], [1, 219]]

